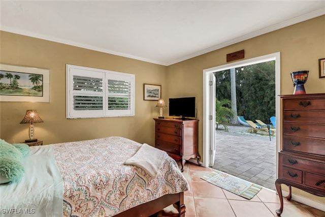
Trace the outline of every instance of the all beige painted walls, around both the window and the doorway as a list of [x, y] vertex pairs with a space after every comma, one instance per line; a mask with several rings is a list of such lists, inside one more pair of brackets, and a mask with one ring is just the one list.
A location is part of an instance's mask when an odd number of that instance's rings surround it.
[[[294, 91], [290, 72], [309, 70], [309, 94], [325, 92], [325, 78], [318, 78], [318, 59], [325, 58], [325, 16], [194, 57], [169, 67], [83, 48], [1, 32], [2, 64], [50, 69], [50, 103], [1, 102], [0, 137], [8, 142], [26, 139], [28, 126], [20, 125], [25, 110], [37, 109], [44, 123], [36, 123], [36, 137], [45, 144], [105, 136], [124, 136], [154, 143], [155, 101], [143, 100], [143, 83], [161, 84], [162, 98], [197, 97], [199, 152], [202, 156], [203, 70], [226, 64], [226, 54], [245, 50], [245, 59], [281, 53], [281, 94]], [[207, 33], [208, 34], [208, 33]], [[222, 34], [222, 33], [220, 33]], [[136, 75], [136, 116], [66, 119], [66, 64], [113, 70]], [[164, 109], [164, 114], [168, 109]], [[299, 193], [314, 200], [323, 198]]]

